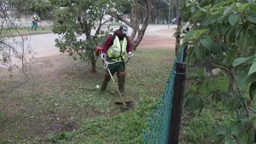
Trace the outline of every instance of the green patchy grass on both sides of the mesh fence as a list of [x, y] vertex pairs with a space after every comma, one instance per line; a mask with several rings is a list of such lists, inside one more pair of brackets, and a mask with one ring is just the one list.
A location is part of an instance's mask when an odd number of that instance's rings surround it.
[[[104, 75], [100, 61], [97, 61], [97, 73], [91, 74], [89, 63], [72, 61], [68, 56], [56, 58], [54, 62], [62, 65], [61, 70], [51, 71], [46, 77], [31, 71], [30, 76], [35, 79], [34, 88], [27, 84], [11, 93], [11, 99], [20, 100], [24, 109], [5, 107], [0, 113], [3, 130], [0, 143], [143, 143], [142, 130], [148, 129], [147, 118], [152, 116], [152, 109], [156, 109], [156, 101], [164, 90], [174, 58], [174, 51], [167, 49], [138, 49], [134, 52], [134, 57], [126, 65], [125, 87], [126, 94], [135, 104], [127, 112], [121, 112], [120, 106], [113, 105], [119, 98], [112, 81], [107, 92], [100, 93], [96, 89]], [[46, 59], [39, 62], [44, 66], [49, 63]], [[114, 79], [117, 80], [117, 77], [114, 76]], [[211, 80], [213, 88], [226, 90], [227, 86], [225, 75]], [[221, 102], [210, 106], [226, 108]], [[11, 109], [16, 112], [9, 115]], [[4, 123], [10, 119], [7, 116], [14, 120]], [[19, 117], [24, 120], [16, 119]], [[31, 128], [27, 128], [24, 121], [30, 122]], [[214, 128], [230, 125], [234, 121], [235, 113], [229, 111], [210, 107], [205, 107], [201, 113], [184, 110], [180, 143], [208, 143], [207, 137]], [[77, 127], [61, 128], [72, 124]], [[38, 136], [32, 128], [46, 130], [47, 133]], [[24, 134], [29, 130], [30, 133]]]

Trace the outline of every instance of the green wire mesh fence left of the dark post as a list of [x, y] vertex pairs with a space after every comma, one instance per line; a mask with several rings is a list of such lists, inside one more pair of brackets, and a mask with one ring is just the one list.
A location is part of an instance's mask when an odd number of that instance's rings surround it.
[[163, 95], [157, 102], [158, 109], [153, 109], [153, 116], [148, 118], [148, 131], [143, 130], [144, 143], [167, 143], [171, 119], [173, 85], [175, 76], [175, 62], [182, 62], [183, 50], [178, 53], [168, 80], [165, 84]]

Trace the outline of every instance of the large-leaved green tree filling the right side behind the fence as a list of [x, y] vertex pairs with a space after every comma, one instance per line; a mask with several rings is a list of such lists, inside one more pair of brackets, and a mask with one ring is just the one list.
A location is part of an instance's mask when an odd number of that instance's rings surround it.
[[[212, 95], [214, 101], [224, 101], [230, 110], [244, 107], [247, 117], [238, 119], [229, 127], [219, 127], [211, 139], [225, 140], [226, 143], [253, 143], [255, 117], [249, 116], [249, 98], [253, 100], [256, 92], [256, 3], [255, 1], [229, 0], [201, 7], [199, 1], [189, 0], [186, 5], [190, 10], [193, 31], [183, 37], [180, 50], [189, 46], [186, 62], [192, 65], [195, 60], [207, 61], [215, 68], [225, 71], [229, 77], [228, 92], [212, 89], [207, 95], [198, 95], [198, 89], [210, 87], [204, 81], [205, 73], [195, 75], [201, 79], [196, 87], [188, 90], [185, 107], [203, 109], [203, 101]], [[248, 90], [242, 93], [241, 88]], [[246, 97], [249, 95], [249, 98]], [[195, 101], [195, 103], [191, 103]]]

